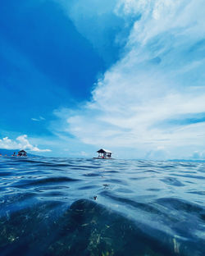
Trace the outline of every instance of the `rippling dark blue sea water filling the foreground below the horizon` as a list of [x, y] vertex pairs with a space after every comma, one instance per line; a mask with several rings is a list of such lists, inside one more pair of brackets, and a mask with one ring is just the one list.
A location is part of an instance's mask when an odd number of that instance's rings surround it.
[[0, 158], [0, 255], [205, 255], [205, 162]]

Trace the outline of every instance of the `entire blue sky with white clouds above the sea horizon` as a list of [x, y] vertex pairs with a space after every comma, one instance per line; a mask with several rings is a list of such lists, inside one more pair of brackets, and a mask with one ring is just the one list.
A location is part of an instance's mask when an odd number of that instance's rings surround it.
[[205, 158], [205, 0], [3, 0], [0, 149]]

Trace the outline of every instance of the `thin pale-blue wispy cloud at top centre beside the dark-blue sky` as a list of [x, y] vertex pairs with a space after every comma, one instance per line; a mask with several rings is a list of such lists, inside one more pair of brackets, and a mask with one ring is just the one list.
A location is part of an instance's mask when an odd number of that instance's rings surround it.
[[[110, 65], [118, 50], [125, 45], [132, 19], [116, 13], [118, 0], [53, 0], [61, 4], [76, 30], [89, 40], [93, 48]], [[138, 19], [138, 16], [135, 16]]]

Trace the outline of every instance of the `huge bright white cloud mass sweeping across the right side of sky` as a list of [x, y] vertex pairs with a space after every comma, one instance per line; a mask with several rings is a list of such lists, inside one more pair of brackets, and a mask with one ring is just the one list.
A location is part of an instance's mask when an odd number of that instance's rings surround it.
[[119, 1], [119, 16], [141, 15], [125, 55], [98, 80], [88, 103], [63, 110], [62, 129], [86, 144], [144, 157], [205, 149], [205, 119], [198, 121], [205, 112], [204, 7], [204, 0]]

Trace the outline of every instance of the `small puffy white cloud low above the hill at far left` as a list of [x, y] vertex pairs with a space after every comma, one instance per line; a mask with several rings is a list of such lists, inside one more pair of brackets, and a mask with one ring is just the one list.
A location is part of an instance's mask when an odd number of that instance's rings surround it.
[[34, 152], [50, 152], [50, 149], [39, 149], [37, 146], [30, 144], [27, 139], [27, 135], [21, 135], [16, 138], [16, 140], [8, 139], [5, 137], [0, 139], [1, 149], [27, 149]]

